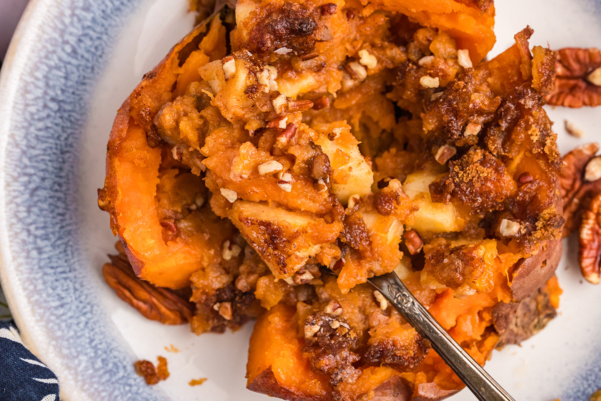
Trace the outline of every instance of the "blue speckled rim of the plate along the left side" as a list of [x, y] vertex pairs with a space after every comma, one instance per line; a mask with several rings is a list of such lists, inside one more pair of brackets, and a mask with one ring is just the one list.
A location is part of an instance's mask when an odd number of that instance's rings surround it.
[[166, 400], [133, 373], [91, 272], [76, 268], [85, 260], [77, 150], [87, 106], [140, 3], [31, 1], [0, 76], [0, 280], [23, 340], [67, 401]]

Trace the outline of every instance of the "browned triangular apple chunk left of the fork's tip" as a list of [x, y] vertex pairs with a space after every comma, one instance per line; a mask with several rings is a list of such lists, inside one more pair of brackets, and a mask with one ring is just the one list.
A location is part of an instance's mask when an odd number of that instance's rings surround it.
[[276, 278], [293, 275], [343, 228], [340, 222], [249, 201], [236, 201], [230, 219]]

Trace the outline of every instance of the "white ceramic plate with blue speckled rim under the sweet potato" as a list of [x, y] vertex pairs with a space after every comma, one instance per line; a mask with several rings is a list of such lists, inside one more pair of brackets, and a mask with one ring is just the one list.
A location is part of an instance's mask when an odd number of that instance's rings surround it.
[[[186, 0], [34, 0], [0, 79], [0, 278], [23, 339], [66, 401], [266, 400], [245, 389], [252, 323], [197, 337], [117, 299], [100, 275], [115, 242], [96, 204], [105, 147], [121, 102], [192, 28]], [[531, 44], [601, 46], [601, 2], [499, 0], [495, 55], [526, 25]], [[517, 10], [517, 11], [516, 11]], [[601, 139], [601, 109], [548, 108], [562, 152]], [[586, 133], [575, 139], [569, 119]], [[559, 316], [521, 347], [495, 351], [487, 370], [516, 399], [585, 400], [601, 387], [599, 287], [583, 283], [575, 243], [558, 269]], [[179, 352], [169, 352], [171, 344]], [[148, 387], [133, 373], [168, 359]], [[198, 387], [191, 379], [208, 378]], [[473, 400], [467, 391], [453, 401]]]

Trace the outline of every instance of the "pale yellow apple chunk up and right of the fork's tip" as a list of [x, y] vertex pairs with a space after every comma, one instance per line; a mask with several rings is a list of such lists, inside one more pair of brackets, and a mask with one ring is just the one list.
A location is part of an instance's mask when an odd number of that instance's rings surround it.
[[413, 224], [418, 232], [444, 233], [461, 231], [465, 221], [452, 203], [435, 203], [430, 197], [429, 185], [440, 178], [437, 174], [418, 171], [409, 174], [403, 183], [403, 191], [419, 207], [413, 215]]

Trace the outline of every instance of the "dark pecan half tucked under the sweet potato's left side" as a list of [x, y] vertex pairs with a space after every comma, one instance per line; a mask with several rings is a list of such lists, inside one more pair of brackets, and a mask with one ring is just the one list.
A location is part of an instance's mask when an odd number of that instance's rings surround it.
[[166, 325], [179, 325], [192, 318], [194, 305], [169, 289], [155, 287], [133, 273], [124, 255], [109, 256], [111, 263], [102, 266], [106, 283], [123, 301], [144, 317]]

